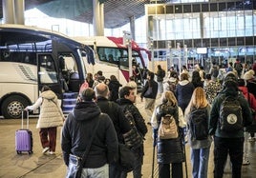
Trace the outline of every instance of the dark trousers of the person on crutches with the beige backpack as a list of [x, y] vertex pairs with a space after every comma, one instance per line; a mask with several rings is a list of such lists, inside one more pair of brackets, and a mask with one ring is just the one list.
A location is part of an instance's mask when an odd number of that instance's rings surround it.
[[170, 176], [170, 164], [159, 164], [159, 178], [182, 178], [183, 170], [182, 163], [173, 163], [172, 165], [172, 176]]

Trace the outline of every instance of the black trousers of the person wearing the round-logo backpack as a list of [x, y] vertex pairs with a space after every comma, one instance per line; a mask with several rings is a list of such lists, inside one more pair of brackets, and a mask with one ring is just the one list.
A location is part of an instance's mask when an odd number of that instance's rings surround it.
[[232, 178], [241, 178], [245, 138], [214, 137], [214, 178], [222, 178], [224, 165], [229, 154]]

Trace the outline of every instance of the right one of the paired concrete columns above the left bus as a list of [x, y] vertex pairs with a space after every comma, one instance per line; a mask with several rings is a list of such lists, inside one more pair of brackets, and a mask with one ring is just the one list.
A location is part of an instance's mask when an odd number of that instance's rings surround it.
[[25, 17], [24, 17], [24, 10], [25, 4], [24, 0], [14, 0], [14, 22], [15, 24], [25, 25]]

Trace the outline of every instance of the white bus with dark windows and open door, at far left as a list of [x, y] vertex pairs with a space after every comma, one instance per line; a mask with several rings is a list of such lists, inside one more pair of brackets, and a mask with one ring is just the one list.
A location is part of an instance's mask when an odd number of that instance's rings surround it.
[[[4, 118], [20, 118], [44, 85], [62, 101], [78, 92], [86, 78], [87, 63], [94, 63], [93, 50], [50, 30], [21, 25], [0, 25], [0, 109]], [[73, 95], [75, 98], [75, 95]], [[74, 103], [62, 102], [64, 112]]]

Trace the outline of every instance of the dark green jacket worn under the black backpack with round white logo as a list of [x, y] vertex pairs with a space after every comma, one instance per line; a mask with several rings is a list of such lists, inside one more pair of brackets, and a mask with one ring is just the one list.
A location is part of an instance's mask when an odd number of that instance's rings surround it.
[[246, 101], [245, 97], [241, 92], [238, 92], [238, 89], [228, 89], [225, 88], [223, 91], [221, 91], [215, 100], [212, 103], [212, 109], [210, 112], [210, 120], [209, 120], [209, 134], [215, 135], [217, 137], [222, 138], [240, 138], [244, 137], [244, 129], [241, 129], [237, 132], [225, 132], [221, 130], [220, 126], [220, 108], [221, 104], [224, 101], [225, 96], [232, 96], [237, 97], [238, 101], [240, 103], [240, 106], [242, 108], [242, 116], [243, 116], [243, 122], [244, 127], [249, 126], [252, 122], [252, 117], [249, 109], [248, 102]]

